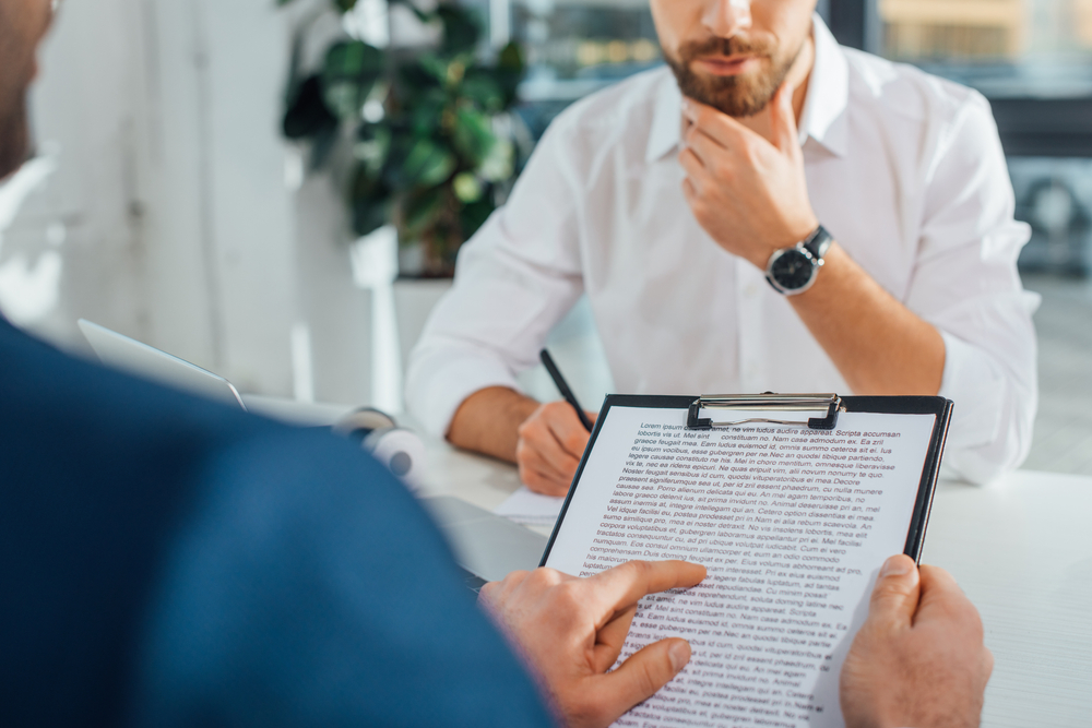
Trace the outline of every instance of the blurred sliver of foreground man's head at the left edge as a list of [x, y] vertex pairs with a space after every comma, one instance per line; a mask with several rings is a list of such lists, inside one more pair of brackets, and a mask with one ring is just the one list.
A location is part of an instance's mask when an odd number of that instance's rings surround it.
[[52, 5], [52, 0], [0, 0], [0, 179], [29, 154], [26, 89], [38, 71], [35, 55]]

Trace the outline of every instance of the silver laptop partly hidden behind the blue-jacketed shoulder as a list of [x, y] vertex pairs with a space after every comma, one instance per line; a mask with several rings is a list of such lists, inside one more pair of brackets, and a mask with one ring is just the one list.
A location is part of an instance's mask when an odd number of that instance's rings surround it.
[[[247, 409], [238, 390], [219, 374], [97, 323], [80, 319], [79, 325], [104, 365]], [[473, 592], [510, 572], [537, 568], [546, 550], [545, 536], [458, 498], [422, 498], [420, 503], [447, 538]]]

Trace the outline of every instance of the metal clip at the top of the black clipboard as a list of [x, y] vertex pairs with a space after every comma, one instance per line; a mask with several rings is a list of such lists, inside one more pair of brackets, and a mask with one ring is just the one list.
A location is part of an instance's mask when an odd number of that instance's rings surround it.
[[[826, 417], [809, 417], [805, 420], [774, 419], [772, 417], [748, 417], [740, 420], [714, 422], [701, 417], [702, 409], [726, 409], [769, 413], [817, 413], [827, 410]], [[838, 427], [838, 414], [845, 411], [842, 397], [836, 394], [704, 394], [690, 405], [687, 414], [688, 430], [712, 430], [739, 427], [740, 425], [764, 423], [806, 427], [812, 430], [833, 430]]]

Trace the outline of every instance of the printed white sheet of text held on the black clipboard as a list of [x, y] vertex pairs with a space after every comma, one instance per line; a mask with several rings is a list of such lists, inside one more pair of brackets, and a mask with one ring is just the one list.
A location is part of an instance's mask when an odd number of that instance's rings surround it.
[[641, 601], [620, 659], [667, 636], [693, 657], [616, 725], [843, 725], [841, 665], [880, 565], [905, 546], [934, 425], [848, 413], [833, 432], [701, 432], [682, 410], [612, 407], [547, 565], [709, 569]]

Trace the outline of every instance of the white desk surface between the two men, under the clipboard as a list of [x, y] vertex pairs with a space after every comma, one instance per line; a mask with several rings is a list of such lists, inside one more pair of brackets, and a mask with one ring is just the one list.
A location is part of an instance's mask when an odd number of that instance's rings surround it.
[[[510, 465], [427, 447], [430, 494], [492, 510], [520, 486]], [[924, 561], [952, 572], [982, 612], [996, 659], [984, 727], [1092, 725], [1090, 521], [1092, 478], [1020, 472], [938, 488]]]

